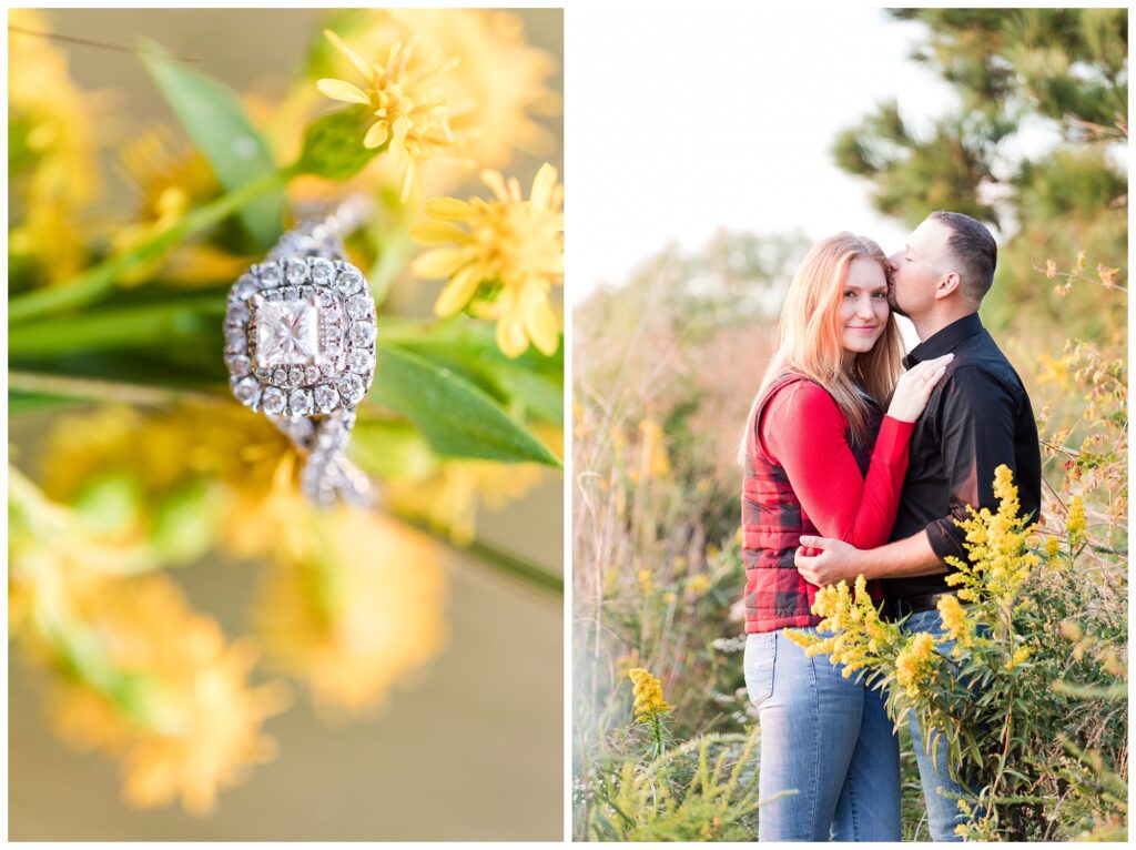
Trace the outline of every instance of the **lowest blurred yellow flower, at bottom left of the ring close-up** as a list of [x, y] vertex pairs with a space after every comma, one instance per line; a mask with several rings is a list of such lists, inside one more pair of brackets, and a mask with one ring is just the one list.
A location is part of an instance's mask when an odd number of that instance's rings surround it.
[[108, 691], [102, 677], [61, 677], [53, 716], [66, 739], [122, 758], [127, 802], [179, 797], [187, 811], [207, 814], [218, 790], [272, 760], [275, 745], [261, 725], [283, 710], [286, 692], [279, 684], [250, 689], [253, 644], [226, 644], [217, 623], [186, 608], [166, 575], [110, 583], [82, 601], [77, 619], [97, 635], [109, 665], [103, 675], [128, 674], [124, 681], [136, 684]]

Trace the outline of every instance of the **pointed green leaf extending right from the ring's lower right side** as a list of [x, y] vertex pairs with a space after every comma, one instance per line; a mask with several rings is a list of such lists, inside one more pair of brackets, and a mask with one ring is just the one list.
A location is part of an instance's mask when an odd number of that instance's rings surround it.
[[500, 405], [450, 369], [390, 345], [377, 353], [370, 400], [415, 423], [438, 455], [560, 466]]

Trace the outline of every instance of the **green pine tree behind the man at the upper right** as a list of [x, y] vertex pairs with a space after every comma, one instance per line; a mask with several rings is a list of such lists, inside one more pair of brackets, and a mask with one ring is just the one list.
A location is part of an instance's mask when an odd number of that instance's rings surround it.
[[[996, 228], [999, 270], [982, 311], [992, 330], [1037, 342], [1122, 333], [1114, 292], [1075, 281], [1054, 298], [1062, 278], [1039, 269], [1052, 259], [1074, 270], [1084, 251], [1080, 276], [1126, 286], [1127, 10], [889, 14], [927, 26], [911, 58], [951, 84], [958, 106], [917, 133], [909, 105], [884, 103], [838, 135], [837, 164], [871, 181], [876, 208], [909, 226], [951, 209]], [[1044, 155], [1018, 152], [1042, 132], [1058, 140]]]

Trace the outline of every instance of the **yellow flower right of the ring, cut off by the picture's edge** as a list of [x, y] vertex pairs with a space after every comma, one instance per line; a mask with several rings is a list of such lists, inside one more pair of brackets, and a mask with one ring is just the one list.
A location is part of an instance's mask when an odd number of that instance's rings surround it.
[[516, 178], [506, 183], [500, 173], [486, 170], [482, 180], [495, 200], [427, 202], [426, 213], [435, 220], [415, 226], [411, 234], [424, 244], [457, 247], [423, 253], [411, 270], [419, 277], [449, 278], [434, 305], [436, 315], [468, 308], [475, 316], [496, 319], [498, 348], [507, 357], [520, 357], [529, 341], [552, 355], [560, 323], [549, 291], [563, 283], [563, 188], [557, 183], [557, 169], [548, 163], [541, 166], [527, 201]]

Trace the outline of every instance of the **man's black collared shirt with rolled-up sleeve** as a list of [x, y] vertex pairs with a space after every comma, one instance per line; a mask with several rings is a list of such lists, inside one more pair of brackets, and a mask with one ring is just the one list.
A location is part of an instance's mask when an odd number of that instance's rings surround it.
[[[977, 312], [917, 345], [904, 365], [910, 368], [950, 351], [954, 359], [911, 434], [892, 540], [926, 530], [935, 555], [941, 559], [953, 555], [966, 561], [966, 534], [954, 520], [970, 517], [967, 505], [997, 510], [994, 469], [1000, 464], [1013, 470], [1021, 512], [1037, 519], [1042, 458], [1026, 388]], [[884, 593], [909, 599], [941, 593], [947, 589], [945, 576], [887, 578]]]

